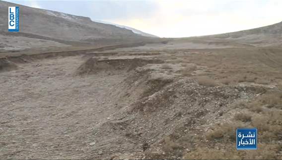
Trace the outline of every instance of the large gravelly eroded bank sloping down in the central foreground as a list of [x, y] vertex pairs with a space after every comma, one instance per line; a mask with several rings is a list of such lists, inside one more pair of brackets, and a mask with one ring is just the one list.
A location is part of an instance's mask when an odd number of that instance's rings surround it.
[[198, 147], [197, 136], [208, 131], [213, 120], [226, 114], [233, 103], [261, 93], [234, 86], [207, 87], [191, 79], [155, 79], [151, 71], [138, 69], [123, 83], [123, 93], [128, 95], [124, 100], [135, 101], [122, 106], [101, 125], [100, 132], [126, 140], [119, 143], [130, 146], [124, 155], [132, 159], [182, 158], [186, 149]]

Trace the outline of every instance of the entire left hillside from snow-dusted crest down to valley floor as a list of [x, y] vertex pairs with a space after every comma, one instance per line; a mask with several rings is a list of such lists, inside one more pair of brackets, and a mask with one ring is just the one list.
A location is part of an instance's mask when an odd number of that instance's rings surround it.
[[[8, 6], [20, 7], [20, 31], [8, 32]], [[97, 47], [157, 40], [89, 17], [0, 1], [0, 52], [28, 49]]]

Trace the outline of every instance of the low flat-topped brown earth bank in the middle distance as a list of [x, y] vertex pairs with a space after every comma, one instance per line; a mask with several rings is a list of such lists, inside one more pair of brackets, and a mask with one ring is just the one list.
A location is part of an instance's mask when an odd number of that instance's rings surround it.
[[146, 64], [163, 63], [159, 59], [99, 59], [90, 58], [83, 63], [74, 73], [75, 76], [91, 75], [103, 71], [131, 71]]

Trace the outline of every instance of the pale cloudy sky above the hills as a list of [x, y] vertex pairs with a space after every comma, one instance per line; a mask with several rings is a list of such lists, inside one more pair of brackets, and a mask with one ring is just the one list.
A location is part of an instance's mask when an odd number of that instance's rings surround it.
[[282, 0], [7, 0], [126, 25], [159, 37], [190, 37], [282, 21]]

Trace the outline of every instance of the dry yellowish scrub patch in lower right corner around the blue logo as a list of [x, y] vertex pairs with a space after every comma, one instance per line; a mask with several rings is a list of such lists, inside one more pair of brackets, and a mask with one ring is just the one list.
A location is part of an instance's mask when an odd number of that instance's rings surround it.
[[[245, 104], [249, 111], [234, 115], [235, 122], [213, 126], [209, 143], [184, 154], [184, 159], [282, 159], [282, 110], [263, 106], [281, 104], [281, 92], [269, 92]], [[236, 151], [236, 128], [258, 128], [258, 150]]]

